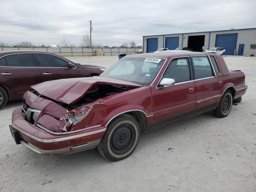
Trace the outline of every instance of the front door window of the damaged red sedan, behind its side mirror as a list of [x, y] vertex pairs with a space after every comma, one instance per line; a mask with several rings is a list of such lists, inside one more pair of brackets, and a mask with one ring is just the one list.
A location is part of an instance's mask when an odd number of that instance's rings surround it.
[[167, 70], [164, 72], [163, 78], [171, 78], [175, 83], [190, 80], [189, 62], [187, 58], [173, 60]]

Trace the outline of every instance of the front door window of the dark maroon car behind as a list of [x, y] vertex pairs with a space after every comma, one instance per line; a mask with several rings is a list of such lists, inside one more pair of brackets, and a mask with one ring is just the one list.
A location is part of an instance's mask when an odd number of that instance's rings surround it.
[[34, 53], [33, 55], [36, 58], [38, 67], [67, 67], [68, 66], [67, 61], [55, 55], [41, 54], [41, 53]]

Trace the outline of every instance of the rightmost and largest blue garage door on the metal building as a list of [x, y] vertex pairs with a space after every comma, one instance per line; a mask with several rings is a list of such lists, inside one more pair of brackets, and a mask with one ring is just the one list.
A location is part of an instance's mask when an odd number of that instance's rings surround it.
[[237, 33], [216, 35], [215, 47], [224, 47], [223, 55], [234, 55], [237, 42]]

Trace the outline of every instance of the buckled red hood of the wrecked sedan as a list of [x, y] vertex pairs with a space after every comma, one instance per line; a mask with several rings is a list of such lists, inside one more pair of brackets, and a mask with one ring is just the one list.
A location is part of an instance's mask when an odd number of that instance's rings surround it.
[[142, 85], [136, 83], [102, 76], [46, 81], [31, 87], [42, 96], [71, 104], [82, 98], [95, 84], [142, 87]]

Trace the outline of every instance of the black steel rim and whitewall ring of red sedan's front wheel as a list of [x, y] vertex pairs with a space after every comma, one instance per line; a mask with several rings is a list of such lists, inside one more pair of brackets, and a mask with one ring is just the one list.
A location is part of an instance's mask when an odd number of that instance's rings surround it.
[[125, 120], [114, 126], [108, 137], [108, 151], [115, 158], [128, 156], [138, 142], [138, 129], [134, 122]]

